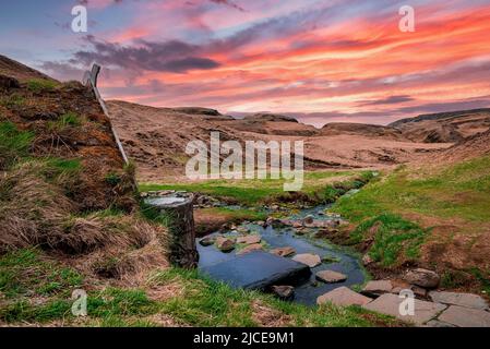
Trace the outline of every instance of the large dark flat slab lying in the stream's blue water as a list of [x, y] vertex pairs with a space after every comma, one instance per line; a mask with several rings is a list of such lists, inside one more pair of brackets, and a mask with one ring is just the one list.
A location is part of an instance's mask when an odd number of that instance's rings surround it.
[[294, 285], [311, 275], [310, 268], [268, 252], [254, 251], [202, 269], [211, 278], [236, 288], [267, 290], [273, 285]]

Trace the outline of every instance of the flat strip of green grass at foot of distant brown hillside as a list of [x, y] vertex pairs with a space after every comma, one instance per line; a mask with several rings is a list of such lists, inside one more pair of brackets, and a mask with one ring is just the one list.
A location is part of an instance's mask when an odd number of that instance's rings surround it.
[[[338, 181], [335, 179], [338, 178]], [[315, 171], [304, 172], [302, 193], [314, 202], [332, 202], [346, 191], [360, 188], [372, 178], [371, 172]], [[193, 183], [140, 184], [140, 191], [184, 190], [216, 197], [229, 197], [241, 204], [254, 206], [286, 194], [285, 180], [208, 180]]]

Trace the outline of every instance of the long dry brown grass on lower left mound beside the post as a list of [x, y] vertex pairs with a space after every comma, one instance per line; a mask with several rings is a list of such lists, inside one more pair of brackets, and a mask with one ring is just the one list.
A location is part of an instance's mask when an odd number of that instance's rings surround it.
[[[29, 161], [0, 178], [0, 253], [40, 246], [87, 276], [127, 285], [168, 266], [165, 228], [138, 213], [80, 216], [79, 205], [67, 196], [72, 179], [49, 181], [43, 170], [41, 163]], [[132, 185], [131, 171], [120, 185]]]

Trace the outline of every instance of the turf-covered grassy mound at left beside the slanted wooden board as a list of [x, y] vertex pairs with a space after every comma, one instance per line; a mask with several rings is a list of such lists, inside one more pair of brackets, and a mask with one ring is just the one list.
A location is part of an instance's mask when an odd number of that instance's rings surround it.
[[139, 213], [93, 92], [0, 61], [0, 325], [61, 325], [73, 289], [107, 306], [105, 285], [167, 266], [166, 230]]

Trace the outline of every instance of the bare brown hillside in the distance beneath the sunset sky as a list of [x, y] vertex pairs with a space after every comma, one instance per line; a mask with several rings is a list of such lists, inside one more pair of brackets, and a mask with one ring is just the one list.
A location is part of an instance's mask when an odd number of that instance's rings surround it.
[[207, 141], [212, 131], [219, 131], [222, 140], [242, 144], [303, 141], [306, 168], [310, 170], [386, 168], [452, 145], [413, 142], [387, 127], [337, 123], [318, 130], [277, 115], [235, 120], [211, 109], [202, 112], [196, 108], [154, 108], [118, 100], [108, 101], [107, 106], [143, 182], [186, 181], [186, 145], [193, 140]]

